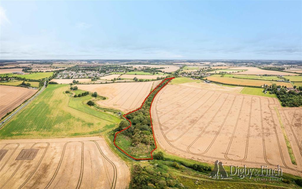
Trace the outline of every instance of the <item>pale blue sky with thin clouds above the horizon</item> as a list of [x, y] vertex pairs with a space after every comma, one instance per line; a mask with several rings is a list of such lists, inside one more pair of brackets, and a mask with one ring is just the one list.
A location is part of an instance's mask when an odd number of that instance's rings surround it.
[[0, 59], [302, 60], [302, 1], [1, 1]]

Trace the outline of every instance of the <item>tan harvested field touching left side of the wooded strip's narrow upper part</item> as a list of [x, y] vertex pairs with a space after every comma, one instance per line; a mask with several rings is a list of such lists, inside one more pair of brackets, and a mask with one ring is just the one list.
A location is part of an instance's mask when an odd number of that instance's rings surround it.
[[99, 105], [129, 112], [139, 108], [139, 106], [143, 103], [144, 99], [151, 91], [153, 81], [85, 84], [77, 86], [81, 90], [97, 92], [98, 95], [108, 97], [106, 100], [98, 101], [97, 103]]

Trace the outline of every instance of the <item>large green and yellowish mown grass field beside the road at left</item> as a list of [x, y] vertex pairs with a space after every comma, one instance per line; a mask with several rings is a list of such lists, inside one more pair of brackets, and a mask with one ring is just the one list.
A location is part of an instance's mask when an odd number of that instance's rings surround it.
[[71, 137], [99, 134], [120, 118], [89, 107], [91, 94], [71, 97], [68, 85], [48, 87], [0, 129], [0, 138]]

